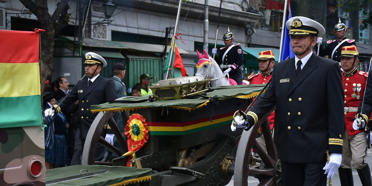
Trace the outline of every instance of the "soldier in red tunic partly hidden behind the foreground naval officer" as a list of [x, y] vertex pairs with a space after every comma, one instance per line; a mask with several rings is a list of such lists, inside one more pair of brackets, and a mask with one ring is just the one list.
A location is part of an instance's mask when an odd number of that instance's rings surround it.
[[[249, 84], [264, 84], [267, 83], [270, 78], [271, 74], [273, 73], [273, 67], [275, 65], [275, 55], [273, 51], [262, 51], [259, 53], [258, 57], [258, 65], [260, 67], [260, 71], [262, 73], [260, 74], [254, 74], [247, 77], [247, 81], [249, 81]], [[273, 129], [274, 127], [274, 112], [270, 114], [270, 116], [267, 118], [269, 120], [270, 128]], [[266, 149], [265, 140], [263, 138], [263, 135], [261, 133], [261, 128], [258, 131], [259, 134], [257, 134], [257, 142]]]

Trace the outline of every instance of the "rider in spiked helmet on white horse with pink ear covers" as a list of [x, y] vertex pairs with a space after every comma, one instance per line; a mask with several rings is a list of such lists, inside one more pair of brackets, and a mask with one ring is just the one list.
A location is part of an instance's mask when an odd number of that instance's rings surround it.
[[[237, 84], [242, 84], [243, 77], [240, 67], [243, 65], [243, 50], [239, 44], [234, 45], [232, 42], [234, 42], [234, 35], [228, 29], [224, 34], [226, 47], [220, 48], [217, 63], [224, 75], [229, 74], [229, 77], [235, 80]], [[212, 49], [212, 54], [217, 54], [217, 48]]]

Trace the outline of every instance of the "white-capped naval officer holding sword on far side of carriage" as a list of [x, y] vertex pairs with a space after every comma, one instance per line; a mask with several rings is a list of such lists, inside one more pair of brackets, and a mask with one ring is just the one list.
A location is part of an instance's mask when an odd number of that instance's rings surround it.
[[[93, 52], [87, 52], [85, 59], [85, 74], [88, 79], [78, 81], [76, 87], [66, 96], [64, 102], [59, 104], [62, 109], [67, 109], [69, 105], [77, 100], [79, 101], [78, 115], [81, 117], [81, 144], [84, 144], [90, 125], [92, 125], [94, 118], [98, 115], [98, 112], [92, 113], [90, 111], [90, 106], [106, 103], [115, 100], [117, 97], [114, 81], [100, 76], [100, 71], [107, 65], [106, 60]], [[57, 110], [55, 109], [55, 111]], [[50, 113], [50, 109], [47, 112]], [[106, 136], [105, 133], [102, 133], [103, 138]], [[96, 160], [102, 160], [105, 152], [105, 148], [98, 144]]]

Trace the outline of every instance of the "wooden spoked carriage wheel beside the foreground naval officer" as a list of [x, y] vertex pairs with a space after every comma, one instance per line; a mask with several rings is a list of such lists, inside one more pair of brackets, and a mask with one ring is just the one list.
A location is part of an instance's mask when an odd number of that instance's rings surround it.
[[[272, 110], [275, 110], [275, 107]], [[249, 131], [243, 131], [235, 158], [234, 185], [247, 186], [248, 176], [255, 176], [260, 180], [259, 186], [281, 186], [280, 160], [272, 138], [270, 124], [267, 120], [272, 110], [260, 118]], [[262, 127], [267, 152], [256, 141], [256, 134], [260, 126]], [[274, 131], [275, 138], [275, 128]], [[263, 168], [251, 165], [252, 148], [264, 163]]]

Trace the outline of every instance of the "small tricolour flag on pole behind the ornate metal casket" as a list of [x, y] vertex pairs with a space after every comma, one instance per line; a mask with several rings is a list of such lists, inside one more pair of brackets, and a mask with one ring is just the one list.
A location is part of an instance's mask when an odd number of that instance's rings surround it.
[[[173, 39], [174, 39], [174, 37], [172, 38], [171, 43], [173, 43]], [[169, 56], [170, 52], [172, 52], [171, 49], [172, 49], [172, 46], [170, 46], [168, 56]], [[185, 66], [183, 65], [180, 52], [177, 49], [176, 43], [174, 43], [174, 50], [173, 50], [173, 52], [174, 53], [173, 53], [172, 59], [167, 58], [167, 60], [165, 62], [165, 65], [164, 65], [164, 74], [167, 73], [168, 67], [169, 67], [169, 61], [171, 61], [171, 65], [170, 65], [170, 68], [169, 68], [169, 76], [168, 77], [169, 78], [184, 77], [184, 76], [186, 76], [186, 70], [185, 70]]]

